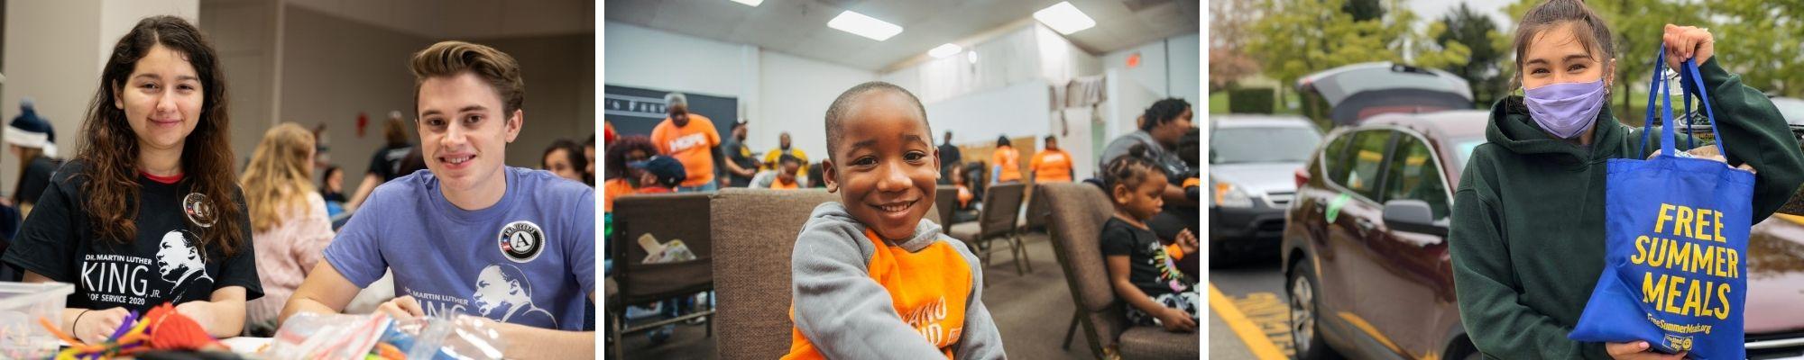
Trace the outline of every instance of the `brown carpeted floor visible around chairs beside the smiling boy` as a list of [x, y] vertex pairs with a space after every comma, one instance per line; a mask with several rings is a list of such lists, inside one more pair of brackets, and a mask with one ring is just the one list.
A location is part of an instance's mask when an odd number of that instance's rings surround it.
[[[1072, 349], [1061, 349], [1077, 308], [1046, 234], [1030, 232], [1025, 241], [1032, 274], [1016, 275], [1007, 245], [996, 247], [998, 252], [985, 268], [990, 286], [983, 290], [983, 304], [1003, 333], [1008, 358], [1093, 358], [1082, 328], [1072, 338]], [[716, 358], [714, 337], [707, 337], [707, 326], [676, 326], [676, 333], [657, 346], [644, 333], [626, 337], [624, 342], [626, 358]]]

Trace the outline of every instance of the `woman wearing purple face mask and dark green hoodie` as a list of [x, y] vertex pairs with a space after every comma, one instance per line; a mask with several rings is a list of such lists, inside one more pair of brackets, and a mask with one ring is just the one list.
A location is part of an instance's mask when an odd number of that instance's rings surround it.
[[[1735, 142], [1716, 158], [1759, 169], [1752, 216], [1764, 220], [1804, 184], [1804, 151], [1766, 95], [1712, 58], [1716, 38], [1707, 29], [1663, 31], [1669, 65], [1698, 61], [1714, 126]], [[1609, 27], [1580, 0], [1544, 2], [1517, 25], [1512, 88], [1521, 95], [1492, 106], [1488, 142], [1472, 149], [1465, 166], [1447, 238], [1461, 322], [1490, 356], [1683, 356], [1647, 351], [1645, 342], [1566, 338], [1604, 270], [1606, 162], [1645, 158], [1660, 148], [1652, 142], [1643, 151], [1642, 130], [1609, 112], [1618, 59], [1611, 40]], [[1642, 61], [1647, 54], [1622, 56]], [[1689, 144], [1678, 140], [1681, 149]], [[1714, 151], [1698, 146], [1692, 153]]]

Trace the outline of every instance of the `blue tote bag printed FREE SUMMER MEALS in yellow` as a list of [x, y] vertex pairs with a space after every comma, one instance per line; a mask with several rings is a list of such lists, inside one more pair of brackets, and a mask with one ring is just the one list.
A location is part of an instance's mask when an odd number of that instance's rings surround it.
[[[1708, 158], [1674, 157], [1672, 99], [1665, 95], [1671, 86], [1663, 90], [1661, 76], [1665, 47], [1660, 54], [1647, 101], [1652, 104], [1652, 97], [1660, 97], [1663, 104], [1660, 155], [1609, 160], [1604, 274], [1568, 338], [1645, 340], [1660, 353], [1741, 360], [1746, 358], [1741, 306], [1748, 290], [1753, 173]], [[1714, 122], [1717, 117], [1698, 63], [1687, 59], [1680, 81], [1694, 90], [1687, 99], [1701, 97]], [[1647, 124], [1652, 117], [1649, 108]], [[1643, 148], [1651, 133], [1643, 128]], [[1725, 140], [1717, 133], [1716, 146], [1726, 155]]]

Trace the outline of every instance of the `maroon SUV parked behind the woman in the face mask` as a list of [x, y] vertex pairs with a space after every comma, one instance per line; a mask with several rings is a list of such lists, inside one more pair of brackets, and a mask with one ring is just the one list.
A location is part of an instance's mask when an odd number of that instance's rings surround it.
[[[1297, 358], [1481, 356], [1459, 322], [1447, 218], [1486, 121], [1373, 117], [1330, 131], [1297, 171], [1281, 248]], [[1804, 355], [1804, 218], [1755, 225], [1748, 247], [1748, 356]]]

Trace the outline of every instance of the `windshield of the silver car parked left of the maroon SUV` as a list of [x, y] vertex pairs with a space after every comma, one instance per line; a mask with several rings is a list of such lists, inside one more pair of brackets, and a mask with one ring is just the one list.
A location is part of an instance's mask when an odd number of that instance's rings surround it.
[[1304, 126], [1218, 128], [1209, 139], [1209, 164], [1304, 162], [1322, 133]]

